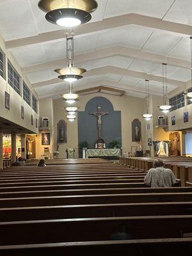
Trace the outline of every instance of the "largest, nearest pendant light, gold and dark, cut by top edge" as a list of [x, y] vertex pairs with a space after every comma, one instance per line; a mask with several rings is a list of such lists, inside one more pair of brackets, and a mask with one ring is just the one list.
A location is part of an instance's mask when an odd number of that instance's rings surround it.
[[95, 0], [40, 0], [38, 7], [46, 12], [45, 19], [65, 28], [79, 26], [92, 19], [97, 9]]

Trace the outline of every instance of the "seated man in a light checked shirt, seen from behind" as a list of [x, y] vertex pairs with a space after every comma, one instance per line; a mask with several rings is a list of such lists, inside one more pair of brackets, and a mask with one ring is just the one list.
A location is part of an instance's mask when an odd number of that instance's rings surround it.
[[168, 188], [176, 183], [172, 170], [163, 167], [161, 159], [154, 160], [154, 168], [150, 169], [144, 179], [145, 185], [151, 188]]

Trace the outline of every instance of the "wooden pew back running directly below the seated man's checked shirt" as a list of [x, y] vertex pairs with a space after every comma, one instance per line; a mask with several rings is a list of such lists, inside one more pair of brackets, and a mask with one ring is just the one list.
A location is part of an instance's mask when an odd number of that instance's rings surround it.
[[67, 195], [112, 195], [129, 193], [187, 193], [191, 188], [105, 188], [105, 189], [63, 189], [47, 191], [7, 191], [0, 192], [0, 198], [31, 197], [31, 196], [67, 196]]

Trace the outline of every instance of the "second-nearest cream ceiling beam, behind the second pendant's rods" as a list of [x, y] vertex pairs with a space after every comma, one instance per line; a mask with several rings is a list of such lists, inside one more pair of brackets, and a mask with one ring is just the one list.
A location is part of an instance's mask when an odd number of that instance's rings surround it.
[[[81, 63], [81, 62], [99, 60], [102, 58], [108, 58], [108, 57], [113, 57], [113, 56], [124, 56], [127, 58], [138, 58], [140, 60], [151, 61], [154, 63], [167, 63], [170, 66], [180, 67], [180, 68], [188, 68], [189, 69], [191, 67], [190, 61], [181, 60], [181, 59], [172, 58], [172, 57], [166, 57], [161, 54], [145, 52], [145, 51], [140, 51], [137, 49], [132, 49], [132, 48], [128, 48], [128, 47], [120, 47], [120, 46], [99, 49], [94, 52], [86, 52], [83, 54], [77, 54], [75, 56], [75, 59], [76, 59], [76, 63]], [[32, 72], [40, 72], [42, 70], [49, 70], [49, 69], [54, 70], [55, 68], [65, 67], [66, 61], [67, 60], [65, 58], [65, 59], [60, 59], [60, 60], [47, 61], [45, 63], [31, 65], [28, 67], [23, 67], [22, 73], [29, 74]]]

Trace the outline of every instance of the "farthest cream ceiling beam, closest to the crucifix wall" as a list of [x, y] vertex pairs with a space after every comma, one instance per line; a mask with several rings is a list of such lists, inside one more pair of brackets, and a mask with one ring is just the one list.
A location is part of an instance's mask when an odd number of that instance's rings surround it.
[[[90, 86], [91, 84], [91, 86]], [[143, 95], [145, 95], [145, 88], [139, 88], [136, 86], [131, 86], [128, 84], [122, 84], [122, 83], [116, 83], [116, 82], [111, 82], [108, 80], [98, 80], [98, 81], [94, 81], [92, 83], [86, 83], [83, 84], [81, 86], [78, 85], [78, 81], [76, 83], [76, 86], [74, 88], [74, 92], [76, 92], [77, 90], [84, 90], [84, 89], [88, 89], [88, 88], [92, 88], [95, 86], [109, 86], [111, 88], [116, 88], [118, 90], [124, 90], [126, 94], [129, 94], [129, 92], [134, 92], [134, 93], [143, 93]], [[58, 96], [60, 94], [66, 93], [67, 92], [67, 88], [63, 88], [61, 90], [53, 90], [52, 92], [49, 93], [40, 93], [38, 94], [38, 99], [44, 99], [47, 97], [54, 97], [54, 96]], [[154, 90], [150, 90], [149, 91], [151, 95], [159, 95], [159, 92], [154, 91]]]

